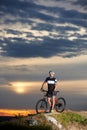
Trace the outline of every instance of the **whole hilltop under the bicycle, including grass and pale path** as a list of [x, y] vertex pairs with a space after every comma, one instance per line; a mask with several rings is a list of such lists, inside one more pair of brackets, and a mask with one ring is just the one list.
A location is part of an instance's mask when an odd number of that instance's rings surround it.
[[[47, 117], [50, 117], [49, 120]], [[35, 127], [36, 130], [38, 125], [43, 127], [38, 130], [87, 130], [87, 111], [65, 110], [62, 113], [18, 115], [7, 121], [0, 119], [0, 127], [2, 123], [4, 125], [27, 126], [31, 130], [32, 127]]]

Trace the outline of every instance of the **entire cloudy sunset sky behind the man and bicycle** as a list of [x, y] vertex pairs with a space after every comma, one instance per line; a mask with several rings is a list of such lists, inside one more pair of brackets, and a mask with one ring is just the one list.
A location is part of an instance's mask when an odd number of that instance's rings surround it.
[[87, 110], [87, 1], [0, 0], [0, 108], [35, 108], [49, 70], [67, 109]]

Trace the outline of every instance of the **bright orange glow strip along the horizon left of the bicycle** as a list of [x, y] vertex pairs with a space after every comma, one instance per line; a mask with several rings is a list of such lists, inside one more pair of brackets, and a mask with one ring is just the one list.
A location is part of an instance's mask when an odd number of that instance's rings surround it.
[[20, 110], [20, 109], [0, 109], [0, 116], [27, 116], [28, 114], [36, 114], [34, 109]]

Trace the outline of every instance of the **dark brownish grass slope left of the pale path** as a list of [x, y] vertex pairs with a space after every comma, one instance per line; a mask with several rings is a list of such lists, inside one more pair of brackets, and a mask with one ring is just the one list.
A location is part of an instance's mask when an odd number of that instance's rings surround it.
[[[10, 121], [1, 121], [0, 129], [9, 129], [9, 130], [52, 130], [52, 127], [49, 123], [46, 123], [45, 116], [43, 114], [35, 115], [35, 120], [38, 120], [39, 124], [29, 125], [29, 116], [15, 116], [14, 119]], [[31, 119], [32, 120], [32, 119]]]

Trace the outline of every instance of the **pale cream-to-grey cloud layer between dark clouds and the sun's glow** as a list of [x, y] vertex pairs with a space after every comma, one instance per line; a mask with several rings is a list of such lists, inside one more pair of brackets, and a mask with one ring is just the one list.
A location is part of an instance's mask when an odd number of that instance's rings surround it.
[[[49, 70], [58, 80], [86, 80], [87, 55], [73, 58], [8, 58], [0, 57], [0, 79], [13, 81], [43, 81]], [[6, 81], [5, 81], [6, 80]]]

